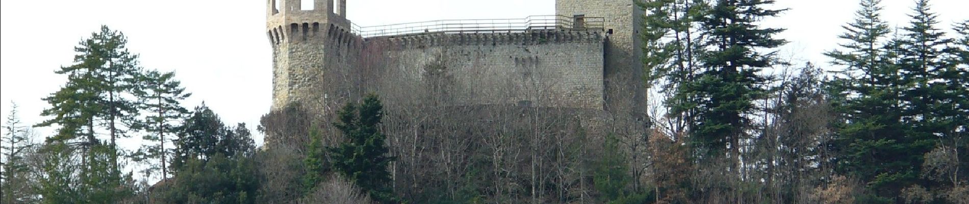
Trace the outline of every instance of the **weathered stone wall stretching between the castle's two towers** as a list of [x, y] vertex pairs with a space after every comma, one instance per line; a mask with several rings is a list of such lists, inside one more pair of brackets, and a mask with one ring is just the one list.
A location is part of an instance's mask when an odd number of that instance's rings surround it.
[[364, 67], [379, 79], [367, 84], [391, 101], [433, 92], [446, 105], [603, 109], [604, 41], [596, 32], [374, 38], [364, 61], [379, 63]]

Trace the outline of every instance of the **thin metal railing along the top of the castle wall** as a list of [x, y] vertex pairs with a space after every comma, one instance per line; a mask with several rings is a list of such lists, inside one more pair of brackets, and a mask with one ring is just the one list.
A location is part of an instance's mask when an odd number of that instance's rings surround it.
[[516, 33], [534, 30], [600, 30], [604, 17], [532, 15], [508, 19], [455, 19], [360, 27], [352, 31], [363, 37], [422, 35], [431, 33]]

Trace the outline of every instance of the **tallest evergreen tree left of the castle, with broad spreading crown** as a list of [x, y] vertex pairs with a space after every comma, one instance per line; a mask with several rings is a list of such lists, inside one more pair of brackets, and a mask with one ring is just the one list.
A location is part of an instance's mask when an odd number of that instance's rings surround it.
[[36, 125], [60, 126], [58, 134], [48, 138], [49, 141], [83, 137], [75, 144], [83, 146], [85, 151], [99, 144], [95, 130], [106, 128], [109, 146], [115, 152], [110, 156], [112, 167], [108, 170], [114, 174], [119, 174], [115, 140], [126, 136], [125, 127], [138, 123], [139, 114], [137, 102], [132, 100], [140, 93], [138, 56], [128, 52], [126, 44], [124, 34], [108, 26], [102, 26], [99, 32], [81, 41], [75, 47], [76, 64], [55, 72], [67, 74], [68, 82], [44, 99], [51, 107], [42, 115], [54, 118]]

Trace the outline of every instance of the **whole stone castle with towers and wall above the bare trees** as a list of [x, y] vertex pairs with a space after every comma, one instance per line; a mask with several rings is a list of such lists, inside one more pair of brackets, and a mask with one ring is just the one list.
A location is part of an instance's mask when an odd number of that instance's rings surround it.
[[[277, 2], [280, 1], [280, 2]], [[267, 0], [272, 109], [334, 112], [377, 93], [432, 90], [441, 105], [561, 107], [641, 121], [641, 10], [634, 0], [556, 0], [551, 16], [359, 27], [346, 0]]]

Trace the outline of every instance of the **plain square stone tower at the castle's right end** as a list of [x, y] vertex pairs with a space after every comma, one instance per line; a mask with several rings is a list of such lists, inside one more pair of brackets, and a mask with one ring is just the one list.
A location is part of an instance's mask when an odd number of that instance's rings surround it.
[[555, 0], [555, 15], [601, 16], [609, 40], [605, 47], [606, 109], [631, 113], [641, 119], [645, 111], [642, 88], [639, 0]]

